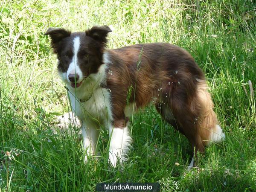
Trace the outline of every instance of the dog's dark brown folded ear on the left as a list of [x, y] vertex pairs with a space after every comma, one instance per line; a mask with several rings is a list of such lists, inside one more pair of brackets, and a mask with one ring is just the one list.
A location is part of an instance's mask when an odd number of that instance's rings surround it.
[[66, 29], [50, 27], [44, 35], [50, 35], [53, 45], [61, 41], [63, 38], [69, 37], [70, 34], [71, 32]]

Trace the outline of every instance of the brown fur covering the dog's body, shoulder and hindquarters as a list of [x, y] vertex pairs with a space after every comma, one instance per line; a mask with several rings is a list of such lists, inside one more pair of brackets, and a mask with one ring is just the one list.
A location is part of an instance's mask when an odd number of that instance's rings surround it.
[[171, 44], [140, 44], [106, 52], [112, 62], [113, 75], [108, 76], [106, 87], [112, 93], [114, 123], [122, 122], [118, 125], [125, 127], [128, 117], [123, 109], [132, 86], [129, 102], [143, 108], [155, 98], [163, 119], [188, 138], [195, 152], [204, 152], [218, 120], [204, 74], [192, 56]]

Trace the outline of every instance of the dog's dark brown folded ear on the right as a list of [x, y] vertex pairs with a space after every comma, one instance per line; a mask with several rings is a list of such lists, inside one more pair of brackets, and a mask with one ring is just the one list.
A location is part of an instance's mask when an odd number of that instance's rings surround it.
[[91, 29], [88, 29], [85, 34], [103, 44], [107, 43], [108, 33], [112, 30], [107, 26], [93, 26]]

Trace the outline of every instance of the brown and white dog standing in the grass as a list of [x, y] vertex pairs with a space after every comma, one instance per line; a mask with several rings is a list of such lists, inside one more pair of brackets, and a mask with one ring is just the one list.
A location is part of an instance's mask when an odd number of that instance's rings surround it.
[[129, 113], [152, 100], [195, 154], [225, 137], [204, 73], [188, 52], [168, 43], [107, 49], [109, 32], [108, 26], [93, 26], [85, 32], [49, 28], [45, 33], [58, 57], [72, 111], [81, 120], [87, 155], [95, 154], [99, 126], [104, 125], [111, 138], [109, 161], [114, 167], [122, 163], [131, 145]]

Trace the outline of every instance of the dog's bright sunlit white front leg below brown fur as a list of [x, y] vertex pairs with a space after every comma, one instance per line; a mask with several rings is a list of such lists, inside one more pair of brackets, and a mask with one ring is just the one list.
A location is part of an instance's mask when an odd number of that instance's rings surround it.
[[119, 161], [121, 164], [127, 159], [127, 152], [131, 146], [131, 136], [128, 127], [109, 128], [110, 146], [109, 161], [113, 167]]

